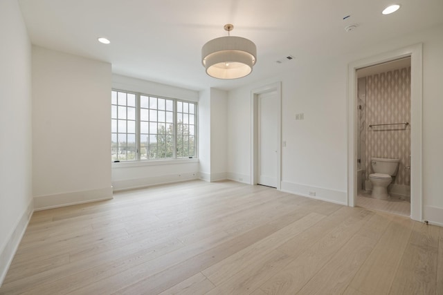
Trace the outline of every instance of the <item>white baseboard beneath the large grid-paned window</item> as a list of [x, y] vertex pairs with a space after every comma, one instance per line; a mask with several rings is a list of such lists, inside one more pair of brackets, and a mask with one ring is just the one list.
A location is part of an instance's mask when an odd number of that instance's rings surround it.
[[141, 189], [142, 187], [151, 187], [158, 184], [167, 184], [182, 182], [187, 180], [199, 179], [198, 172], [150, 176], [147, 178], [136, 178], [130, 180], [115, 180], [112, 182], [114, 191], [125, 191], [127, 189]]

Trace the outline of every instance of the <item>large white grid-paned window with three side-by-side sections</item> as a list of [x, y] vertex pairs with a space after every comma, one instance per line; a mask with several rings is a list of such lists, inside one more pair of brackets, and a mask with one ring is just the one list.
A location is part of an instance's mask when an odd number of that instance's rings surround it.
[[196, 158], [197, 104], [111, 92], [111, 160]]

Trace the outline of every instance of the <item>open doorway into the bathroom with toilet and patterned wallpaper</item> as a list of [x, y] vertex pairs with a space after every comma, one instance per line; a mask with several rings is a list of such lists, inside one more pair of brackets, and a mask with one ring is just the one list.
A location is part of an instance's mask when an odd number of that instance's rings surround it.
[[[359, 68], [356, 76], [356, 206], [409, 217], [410, 57]], [[380, 165], [397, 169], [379, 180], [374, 173], [388, 173]]]

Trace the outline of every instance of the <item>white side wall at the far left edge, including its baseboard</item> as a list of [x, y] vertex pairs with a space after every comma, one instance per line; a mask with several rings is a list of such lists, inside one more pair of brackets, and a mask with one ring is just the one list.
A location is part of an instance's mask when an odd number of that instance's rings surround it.
[[33, 211], [31, 46], [17, 1], [0, 1], [0, 285]]

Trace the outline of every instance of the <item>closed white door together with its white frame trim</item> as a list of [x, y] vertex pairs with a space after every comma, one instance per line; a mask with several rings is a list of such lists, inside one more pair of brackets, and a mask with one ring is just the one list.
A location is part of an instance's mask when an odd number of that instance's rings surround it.
[[281, 83], [251, 91], [251, 184], [281, 188]]

